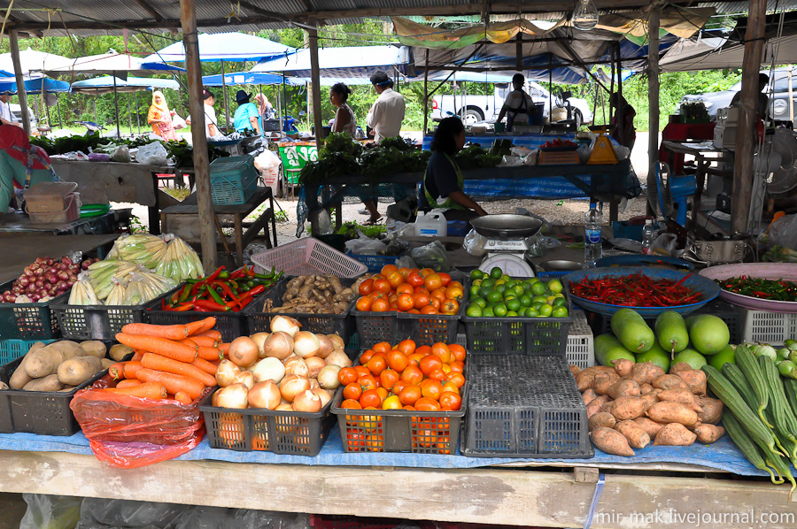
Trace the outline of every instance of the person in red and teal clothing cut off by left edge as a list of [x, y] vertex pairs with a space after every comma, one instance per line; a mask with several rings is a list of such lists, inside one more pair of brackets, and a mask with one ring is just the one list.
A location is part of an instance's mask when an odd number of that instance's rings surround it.
[[31, 145], [19, 126], [0, 122], [0, 215], [8, 211], [14, 196], [14, 182], [29, 188], [56, 179], [50, 157], [41, 147]]

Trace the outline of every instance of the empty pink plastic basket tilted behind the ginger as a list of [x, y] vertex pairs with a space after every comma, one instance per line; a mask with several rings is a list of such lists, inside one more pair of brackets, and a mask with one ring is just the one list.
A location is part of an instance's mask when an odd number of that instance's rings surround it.
[[265, 271], [273, 266], [285, 275], [329, 273], [339, 278], [356, 278], [368, 272], [368, 266], [312, 237], [267, 249], [251, 256], [251, 260]]

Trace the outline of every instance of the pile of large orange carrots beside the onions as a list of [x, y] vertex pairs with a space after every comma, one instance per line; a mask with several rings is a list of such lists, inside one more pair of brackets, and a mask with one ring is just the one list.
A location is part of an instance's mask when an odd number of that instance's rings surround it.
[[132, 348], [134, 355], [109, 368], [116, 386], [101, 391], [192, 403], [205, 387], [216, 386], [216, 370], [229, 350], [215, 325], [211, 317], [185, 325], [122, 327], [116, 340]]

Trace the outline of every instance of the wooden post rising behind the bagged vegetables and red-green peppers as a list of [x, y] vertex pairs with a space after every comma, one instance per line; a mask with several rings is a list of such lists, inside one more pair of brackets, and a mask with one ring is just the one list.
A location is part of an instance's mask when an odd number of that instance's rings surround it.
[[[205, 109], [202, 102], [202, 65], [199, 62], [199, 35], [197, 34], [197, 12], [195, 0], [180, 0], [182, 42], [185, 46], [185, 67], [188, 70], [189, 108], [194, 126], [193, 140], [194, 179], [197, 184], [199, 209], [199, 239], [202, 242], [202, 265], [205, 272], [216, 269], [216, 231], [213, 217], [213, 199], [210, 188], [210, 164], [207, 159], [205, 137]], [[223, 78], [223, 76], [222, 76]]]

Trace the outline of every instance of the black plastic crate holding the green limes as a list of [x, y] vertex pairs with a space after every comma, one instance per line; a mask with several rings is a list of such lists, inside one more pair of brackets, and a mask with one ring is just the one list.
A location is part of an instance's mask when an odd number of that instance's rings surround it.
[[[514, 278], [522, 279], [522, 278]], [[467, 311], [470, 303], [471, 281], [465, 286], [461, 310]], [[564, 357], [568, 348], [568, 333], [573, 323], [573, 303], [565, 296], [567, 318], [486, 318], [463, 316], [468, 353], [480, 355], [531, 355]], [[464, 313], [464, 312], [463, 312]]]

